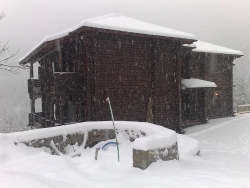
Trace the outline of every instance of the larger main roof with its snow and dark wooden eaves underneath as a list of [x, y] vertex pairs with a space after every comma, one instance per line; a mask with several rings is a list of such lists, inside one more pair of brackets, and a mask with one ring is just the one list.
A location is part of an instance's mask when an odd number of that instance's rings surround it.
[[189, 33], [154, 25], [151, 23], [143, 22], [140, 20], [126, 17], [126, 16], [121, 16], [117, 14], [109, 14], [105, 16], [85, 19], [73, 28], [70, 28], [68, 30], [65, 30], [65, 31], [62, 31], [60, 33], [56, 33], [50, 36], [46, 36], [30, 52], [28, 52], [25, 56], [19, 59], [18, 61], [19, 64], [25, 65], [27, 63], [36, 62], [38, 57], [34, 57], [34, 56], [40, 57], [41, 49], [47, 48], [48, 44], [50, 44], [51, 42], [66, 38], [71, 33], [74, 33], [83, 27], [136, 33], [136, 34], [143, 34], [143, 35], [148, 35], [148, 36], [161, 36], [161, 37], [172, 38], [172, 39], [187, 40], [187, 42], [190, 42], [190, 43], [197, 41], [196, 37]]

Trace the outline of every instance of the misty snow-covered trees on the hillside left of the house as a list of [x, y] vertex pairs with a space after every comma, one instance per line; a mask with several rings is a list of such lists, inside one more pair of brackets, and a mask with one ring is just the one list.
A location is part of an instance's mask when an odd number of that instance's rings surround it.
[[27, 129], [30, 106], [26, 85], [22, 79], [0, 78], [0, 133]]

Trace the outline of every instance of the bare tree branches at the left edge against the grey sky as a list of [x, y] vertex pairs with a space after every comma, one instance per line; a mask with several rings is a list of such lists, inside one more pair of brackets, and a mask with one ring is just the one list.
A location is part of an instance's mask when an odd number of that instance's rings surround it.
[[[5, 17], [4, 12], [1, 12], [0, 13], [0, 21], [4, 17]], [[12, 73], [16, 73], [19, 68], [26, 68], [26, 67], [22, 67], [20, 65], [18, 65], [18, 66], [17, 65], [12, 65], [11, 63], [8, 62], [19, 51], [19, 50], [17, 50], [16, 52], [9, 54], [10, 52], [9, 52], [8, 43], [9, 43], [9, 41], [2, 44], [1, 41], [0, 41], [0, 56], [2, 56], [2, 58], [0, 58], [0, 69], [10, 71]]]

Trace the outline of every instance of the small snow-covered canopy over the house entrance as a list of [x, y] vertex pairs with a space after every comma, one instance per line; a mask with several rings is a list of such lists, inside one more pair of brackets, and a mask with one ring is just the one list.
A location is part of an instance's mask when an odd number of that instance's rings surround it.
[[181, 84], [186, 88], [217, 87], [214, 82], [200, 80], [196, 78], [182, 79]]

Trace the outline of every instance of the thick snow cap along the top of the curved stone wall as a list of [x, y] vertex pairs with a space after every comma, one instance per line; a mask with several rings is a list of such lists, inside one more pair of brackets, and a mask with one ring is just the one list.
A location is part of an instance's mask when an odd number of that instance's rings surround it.
[[[150, 137], [142, 141], [136, 141], [136, 148], [162, 148], [162, 145], [169, 147], [177, 142], [176, 133], [170, 129], [164, 128], [159, 125], [146, 123], [146, 122], [128, 122], [128, 121], [116, 121], [116, 129], [120, 131], [133, 130], [134, 132], [142, 131], [147, 136], [155, 135], [155, 137]], [[10, 139], [13, 142], [27, 142], [36, 139], [49, 138], [59, 135], [68, 135], [74, 133], [82, 133], [85, 131], [90, 131], [93, 129], [113, 129], [112, 121], [97, 121], [97, 122], [82, 122], [71, 125], [64, 125], [59, 127], [50, 127], [44, 129], [29, 130], [16, 133], [2, 134], [0, 137]], [[156, 136], [157, 135], [157, 136]], [[150, 143], [150, 140], [154, 140]], [[136, 140], [144, 139], [144, 137], [138, 138]], [[163, 143], [161, 143], [163, 141]], [[139, 146], [139, 143], [142, 145]]]

